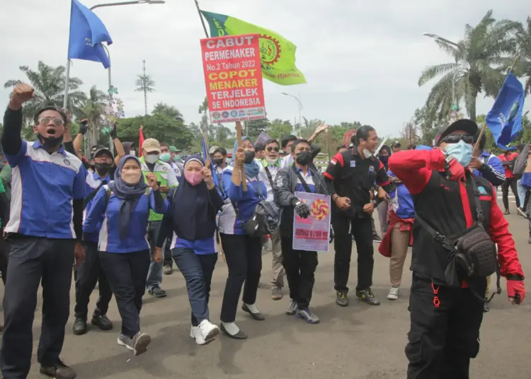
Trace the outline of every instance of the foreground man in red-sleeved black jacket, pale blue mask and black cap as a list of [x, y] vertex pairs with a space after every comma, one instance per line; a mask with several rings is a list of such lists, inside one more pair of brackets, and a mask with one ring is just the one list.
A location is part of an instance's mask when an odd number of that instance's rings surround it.
[[473, 226], [479, 214], [472, 180], [483, 212], [482, 226], [498, 245], [498, 264], [507, 279], [509, 299], [519, 303], [525, 297], [522, 267], [496, 192], [488, 180], [472, 175], [468, 168], [476, 131], [475, 122], [461, 119], [442, 131], [435, 140], [437, 148], [402, 151], [389, 158], [389, 169], [411, 192], [416, 210], [408, 379], [469, 378], [470, 358], [479, 351], [484, 303], [476, 295], [485, 293], [486, 278], [464, 281], [456, 274], [455, 283], [450, 282], [448, 272], [458, 270], [448, 264], [449, 250], [418, 221], [422, 218], [445, 236]]

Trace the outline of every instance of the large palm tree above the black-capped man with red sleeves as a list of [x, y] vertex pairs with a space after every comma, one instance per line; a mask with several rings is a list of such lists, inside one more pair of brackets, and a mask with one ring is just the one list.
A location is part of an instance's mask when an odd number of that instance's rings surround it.
[[496, 21], [492, 11], [488, 11], [476, 26], [465, 25], [464, 38], [457, 44], [440, 38], [435, 40], [455, 62], [429, 66], [418, 79], [418, 85], [423, 86], [436, 76], [442, 76], [431, 88], [426, 101], [430, 119], [449, 115], [452, 86], [455, 86], [455, 99], [464, 99], [469, 117], [476, 118], [477, 95], [498, 95], [505, 76], [502, 57], [512, 52], [510, 36], [516, 30], [517, 22]]

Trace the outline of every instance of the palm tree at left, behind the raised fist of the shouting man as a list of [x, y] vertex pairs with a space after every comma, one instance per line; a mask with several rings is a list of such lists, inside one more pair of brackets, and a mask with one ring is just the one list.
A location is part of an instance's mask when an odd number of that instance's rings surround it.
[[[62, 108], [64, 100], [64, 74], [66, 71], [64, 66], [52, 67], [39, 61], [37, 71], [33, 71], [28, 66], [20, 66], [19, 69], [28, 78], [31, 86], [35, 88], [35, 97], [25, 104], [23, 109], [26, 125], [31, 124], [33, 115], [42, 107], [55, 105]], [[21, 82], [18, 79], [8, 80], [4, 83], [4, 88], [14, 87]], [[86, 99], [86, 95], [82, 91], [79, 91], [81, 84], [83, 84], [81, 79], [69, 78], [68, 109], [74, 115], [79, 113]]]

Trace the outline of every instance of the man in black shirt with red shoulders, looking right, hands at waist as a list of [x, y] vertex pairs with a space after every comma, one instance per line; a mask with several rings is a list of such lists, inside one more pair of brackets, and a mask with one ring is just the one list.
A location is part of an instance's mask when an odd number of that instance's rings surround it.
[[[370, 305], [379, 305], [371, 291], [372, 269], [375, 264], [372, 246], [372, 212], [387, 197], [394, 185], [389, 182], [382, 162], [374, 156], [379, 144], [373, 127], [360, 127], [352, 137], [355, 147], [333, 156], [324, 177], [329, 192], [332, 194], [333, 231], [336, 235], [334, 248], [334, 283], [337, 292], [336, 303], [343, 307], [348, 305], [348, 274], [350, 272], [350, 255], [352, 255], [352, 238], [349, 224], [358, 250], [358, 286], [356, 296]], [[378, 199], [371, 202], [370, 191], [378, 189]], [[386, 192], [387, 191], [387, 192]]]

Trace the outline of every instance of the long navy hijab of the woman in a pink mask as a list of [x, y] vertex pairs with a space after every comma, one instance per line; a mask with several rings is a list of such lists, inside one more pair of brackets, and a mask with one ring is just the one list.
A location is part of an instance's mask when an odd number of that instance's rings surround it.
[[172, 198], [173, 229], [183, 240], [203, 240], [214, 236], [215, 210], [210, 205], [207, 184], [202, 181], [193, 186], [185, 178], [186, 165], [198, 162], [203, 167], [205, 161], [200, 156], [189, 156], [184, 163], [184, 173], [179, 180]]

